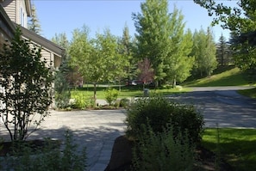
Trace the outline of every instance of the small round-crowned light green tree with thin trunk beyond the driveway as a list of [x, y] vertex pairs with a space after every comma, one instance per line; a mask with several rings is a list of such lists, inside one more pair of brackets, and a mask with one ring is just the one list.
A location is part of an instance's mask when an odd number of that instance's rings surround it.
[[72, 68], [84, 77], [86, 82], [94, 82], [94, 99], [97, 98], [97, 83], [121, 80], [122, 71], [126, 63], [118, 50], [116, 36], [109, 29], [103, 34], [96, 34], [96, 38], [90, 40], [88, 29], [76, 29], [73, 32], [73, 40], [69, 48]]

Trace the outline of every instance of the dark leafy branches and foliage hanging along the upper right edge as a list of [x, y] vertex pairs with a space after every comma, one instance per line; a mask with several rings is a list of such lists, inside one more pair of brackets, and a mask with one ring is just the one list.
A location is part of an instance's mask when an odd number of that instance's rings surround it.
[[[212, 24], [222, 23], [223, 28], [231, 31], [230, 42], [234, 52], [234, 62], [241, 70], [255, 69], [255, 35], [256, 35], [256, 13], [254, 0], [240, 0], [232, 7], [217, 1], [194, 0], [203, 8], [207, 9], [209, 15], [214, 15]], [[253, 76], [255, 77], [254, 70]]]

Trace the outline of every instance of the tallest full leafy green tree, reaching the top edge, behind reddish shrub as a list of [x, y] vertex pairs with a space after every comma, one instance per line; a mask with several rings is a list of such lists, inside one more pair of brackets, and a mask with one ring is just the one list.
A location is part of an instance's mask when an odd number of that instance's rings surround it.
[[147, 0], [140, 4], [141, 13], [133, 14], [137, 34], [137, 56], [148, 58], [152, 64], [156, 86], [163, 82], [165, 58], [170, 52], [170, 14], [167, 0]]

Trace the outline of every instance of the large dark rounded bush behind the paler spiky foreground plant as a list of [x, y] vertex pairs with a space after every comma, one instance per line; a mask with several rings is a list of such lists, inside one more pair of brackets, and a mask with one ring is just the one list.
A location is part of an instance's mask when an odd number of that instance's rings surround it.
[[162, 132], [166, 125], [171, 124], [176, 135], [178, 131], [188, 131], [191, 143], [201, 140], [203, 115], [193, 106], [169, 101], [161, 95], [140, 98], [128, 108], [128, 137], [140, 137], [143, 134], [141, 126], [146, 125], [147, 120], [154, 132]]

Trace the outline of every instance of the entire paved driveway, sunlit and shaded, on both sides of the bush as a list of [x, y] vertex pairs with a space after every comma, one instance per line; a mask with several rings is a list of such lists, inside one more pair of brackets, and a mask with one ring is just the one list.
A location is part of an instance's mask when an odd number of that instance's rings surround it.
[[[195, 88], [194, 92], [171, 96], [172, 99], [195, 104], [201, 110], [206, 127], [256, 128], [256, 101], [238, 95], [239, 87]], [[244, 88], [243, 88], [244, 89]], [[96, 110], [53, 112], [29, 138], [64, 138], [66, 129], [72, 130], [79, 148], [87, 147], [88, 168], [101, 171], [109, 163], [116, 137], [124, 134], [125, 110]], [[8, 133], [0, 125], [0, 137]]]

